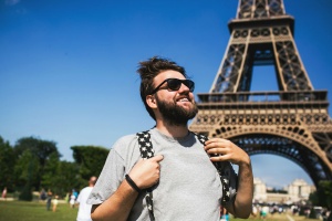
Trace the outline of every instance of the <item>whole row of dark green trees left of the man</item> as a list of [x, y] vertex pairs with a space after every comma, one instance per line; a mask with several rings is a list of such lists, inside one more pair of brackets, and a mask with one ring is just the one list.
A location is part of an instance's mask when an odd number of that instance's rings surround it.
[[98, 176], [108, 149], [74, 146], [74, 162], [60, 160], [54, 141], [34, 137], [19, 139], [14, 147], [0, 136], [0, 188], [17, 191], [20, 199], [31, 200], [32, 191], [51, 190], [64, 197], [72, 189], [86, 186], [91, 176]]

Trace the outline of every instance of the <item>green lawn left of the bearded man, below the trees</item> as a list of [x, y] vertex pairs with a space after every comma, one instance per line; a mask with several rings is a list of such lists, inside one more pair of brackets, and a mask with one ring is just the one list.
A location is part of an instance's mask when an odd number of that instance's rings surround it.
[[77, 208], [68, 203], [59, 203], [53, 212], [46, 210], [45, 202], [0, 201], [0, 221], [74, 221], [76, 215]]

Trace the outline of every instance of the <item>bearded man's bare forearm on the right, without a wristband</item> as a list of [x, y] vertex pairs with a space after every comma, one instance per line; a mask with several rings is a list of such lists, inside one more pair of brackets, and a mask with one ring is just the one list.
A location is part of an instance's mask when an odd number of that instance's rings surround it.
[[234, 204], [235, 215], [248, 218], [252, 210], [253, 176], [251, 162], [239, 165], [238, 190]]

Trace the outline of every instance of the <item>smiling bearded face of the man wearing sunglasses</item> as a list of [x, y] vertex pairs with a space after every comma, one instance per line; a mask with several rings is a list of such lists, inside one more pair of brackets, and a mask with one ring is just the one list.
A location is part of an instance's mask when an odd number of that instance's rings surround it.
[[[165, 71], [155, 77], [155, 86], [167, 78], [185, 80], [179, 72]], [[185, 84], [176, 91], [170, 90], [167, 84], [165, 82], [155, 93], [158, 110], [165, 122], [172, 125], [187, 125], [198, 112], [194, 94]]]

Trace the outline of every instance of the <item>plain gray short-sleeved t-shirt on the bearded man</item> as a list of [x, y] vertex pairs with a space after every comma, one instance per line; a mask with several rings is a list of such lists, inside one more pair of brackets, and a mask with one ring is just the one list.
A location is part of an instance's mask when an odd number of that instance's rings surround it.
[[[156, 220], [219, 220], [220, 178], [196, 136], [189, 133], [175, 139], [154, 128], [151, 138], [155, 156], [164, 156], [160, 179], [153, 190]], [[108, 199], [139, 158], [136, 135], [120, 138], [108, 154], [87, 203], [100, 204]], [[136, 199], [128, 220], [149, 220], [144, 196], [143, 192]], [[234, 196], [231, 191], [231, 198]]]

